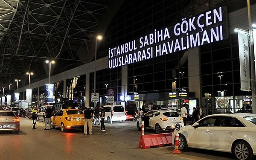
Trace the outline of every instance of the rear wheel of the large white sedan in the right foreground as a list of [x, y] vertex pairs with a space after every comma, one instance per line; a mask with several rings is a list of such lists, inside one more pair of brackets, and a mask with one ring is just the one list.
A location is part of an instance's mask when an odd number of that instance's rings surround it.
[[244, 141], [237, 142], [233, 147], [233, 154], [237, 160], [252, 160], [253, 151], [250, 145]]

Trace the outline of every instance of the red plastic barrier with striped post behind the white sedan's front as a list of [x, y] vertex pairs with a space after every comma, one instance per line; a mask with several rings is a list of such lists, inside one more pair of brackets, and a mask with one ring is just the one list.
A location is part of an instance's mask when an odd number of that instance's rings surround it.
[[142, 121], [139, 148], [148, 149], [151, 147], [163, 147], [166, 145], [172, 145], [172, 134], [164, 133], [144, 135], [144, 121]]

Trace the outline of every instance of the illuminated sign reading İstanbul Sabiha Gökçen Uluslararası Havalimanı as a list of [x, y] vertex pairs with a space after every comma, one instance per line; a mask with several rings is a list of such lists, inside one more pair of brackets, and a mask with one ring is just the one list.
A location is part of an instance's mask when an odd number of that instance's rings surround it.
[[115, 68], [181, 50], [221, 41], [228, 37], [227, 7], [219, 7], [137, 40], [109, 48], [108, 67]]

